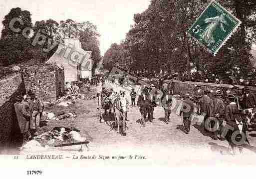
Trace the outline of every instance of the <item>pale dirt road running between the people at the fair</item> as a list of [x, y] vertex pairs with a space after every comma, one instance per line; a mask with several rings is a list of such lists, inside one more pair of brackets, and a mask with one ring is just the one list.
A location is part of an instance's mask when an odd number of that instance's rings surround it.
[[[114, 90], [120, 87], [115, 87]], [[249, 141], [252, 146], [245, 145], [243, 155], [231, 156], [229, 154], [229, 145], [227, 141], [215, 141], [209, 134], [195, 125], [191, 126], [191, 132], [187, 135], [182, 130], [182, 121], [180, 116], [175, 113], [171, 114], [171, 122], [163, 122], [164, 110], [161, 107], [155, 108], [153, 122], [147, 122], [146, 127], [142, 127], [136, 121], [139, 119], [139, 108], [130, 108], [128, 112], [128, 130], [127, 136], [121, 136], [116, 131], [111, 130], [110, 126], [105, 123], [99, 123], [97, 115], [97, 101], [78, 100], [75, 104], [80, 107], [79, 110], [85, 110], [77, 118], [68, 118], [61, 121], [50, 121], [47, 126], [40, 129], [44, 132], [56, 126], [70, 126], [73, 124], [81, 131], [89, 141], [89, 151], [78, 152], [79, 146], [50, 148], [47, 150], [21, 151], [21, 154], [52, 152], [61, 153], [62, 155], [141, 155], [146, 156], [146, 163], [168, 164], [168, 165], [189, 165], [195, 161], [202, 165], [213, 165], [215, 163], [236, 164], [239, 160], [241, 164], [256, 163], [256, 132], [249, 133]], [[105, 116], [109, 119], [109, 116]], [[243, 160], [248, 158], [247, 160]], [[106, 162], [106, 161], [105, 161]], [[104, 163], [105, 163], [104, 162]], [[108, 161], [111, 162], [111, 161]], [[112, 161], [113, 162], [113, 161]], [[251, 163], [250, 163], [251, 162]], [[127, 164], [133, 164], [131, 161]], [[136, 163], [137, 164], [137, 163]]]

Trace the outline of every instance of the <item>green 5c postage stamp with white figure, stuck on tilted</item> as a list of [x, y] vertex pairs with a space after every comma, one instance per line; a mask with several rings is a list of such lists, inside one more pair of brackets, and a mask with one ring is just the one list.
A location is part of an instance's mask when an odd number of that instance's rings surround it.
[[188, 34], [216, 55], [240, 24], [237, 17], [212, 0], [188, 30]]

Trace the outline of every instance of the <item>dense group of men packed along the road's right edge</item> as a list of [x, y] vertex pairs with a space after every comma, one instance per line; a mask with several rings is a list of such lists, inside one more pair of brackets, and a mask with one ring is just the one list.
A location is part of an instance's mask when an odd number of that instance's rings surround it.
[[[212, 138], [218, 140], [217, 126], [219, 125], [219, 139], [222, 141], [227, 139], [233, 152], [235, 148], [239, 148], [242, 152], [244, 143], [241, 142], [238, 145], [239, 141], [244, 139], [246, 139], [244, 142], [248, 141], [249, 124], [245, 109], [256, 108], [256, 96], [250, 88], [246, 86], [242, 92], [240, 91], [238, 86], [233, 86], [231, 90], [216, 88], [209, 91], [197, 85], [193, 94], [197, 113], [204, 116], [205, 131], [212, 132]], [[224, 121], [227, 123], [226, 126], [224, 126]], [[234, 133], [238, 131], [240, 131], [239, 135], [233, 139]]]

